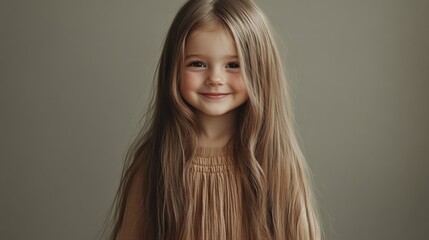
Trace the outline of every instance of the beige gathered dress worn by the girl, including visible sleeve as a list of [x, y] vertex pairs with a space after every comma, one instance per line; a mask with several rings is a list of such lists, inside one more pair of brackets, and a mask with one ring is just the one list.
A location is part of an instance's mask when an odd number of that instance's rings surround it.
[[[184, 168], [185, 198], [183, 239], [246, 239], [242, 227], [241, 186], [234, 171], [230, 146], [197, 148]], [[139, 179], [135, 179], [137, 182]], [[138, 212], [141, 190], [133, 184], [120, 239], [143, 239]]]

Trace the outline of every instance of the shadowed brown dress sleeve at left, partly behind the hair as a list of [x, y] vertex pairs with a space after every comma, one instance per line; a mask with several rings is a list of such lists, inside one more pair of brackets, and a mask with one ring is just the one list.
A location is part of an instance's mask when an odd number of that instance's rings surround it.
[[126, 198], [124, 218], [119, 234], [120, 240], [143, 239], [142, 185], [141, 173], [137, 171], [132, 178]]

